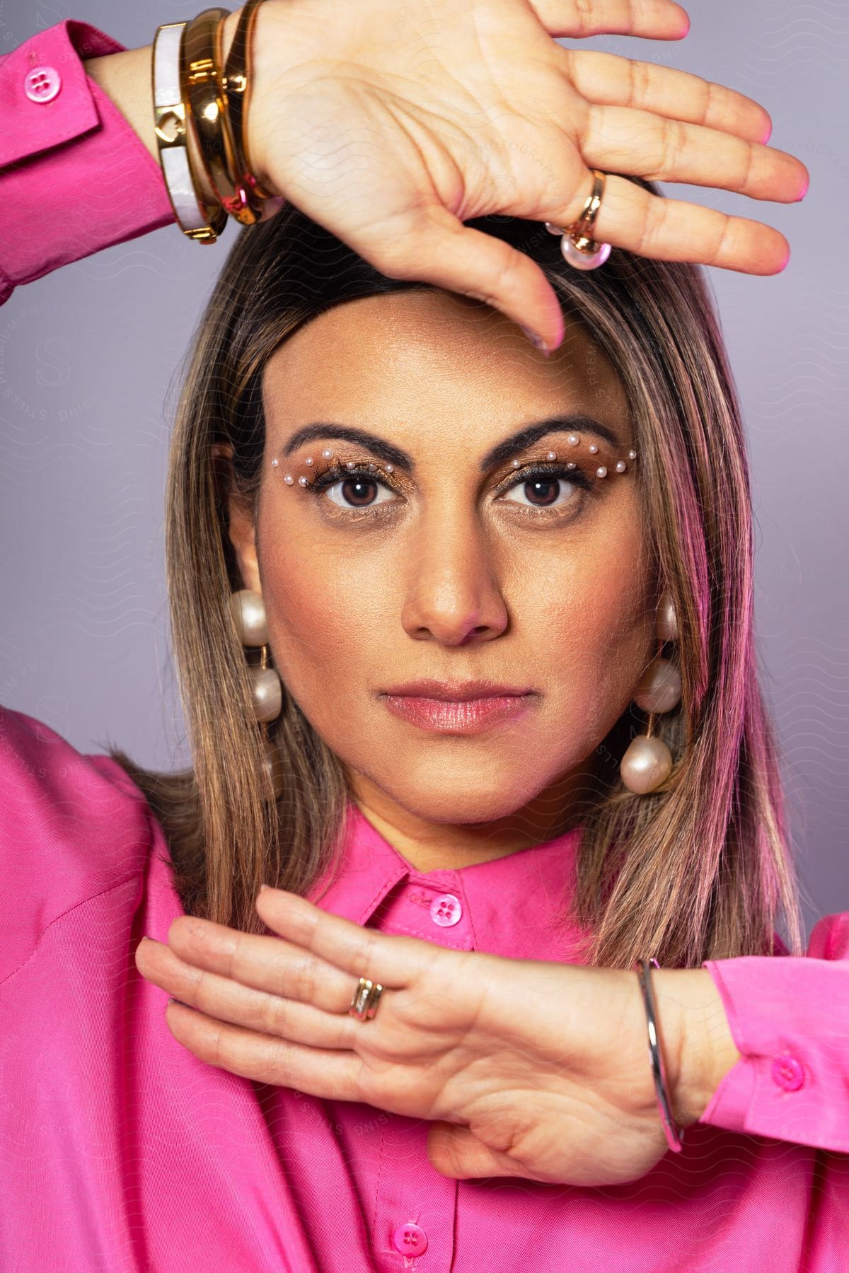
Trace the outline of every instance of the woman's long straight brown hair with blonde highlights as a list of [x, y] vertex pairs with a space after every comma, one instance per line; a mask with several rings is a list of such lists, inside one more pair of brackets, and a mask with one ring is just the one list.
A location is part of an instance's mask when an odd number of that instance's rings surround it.
[[[635, 179], [659, 195], [649, 181]], [[639, 490], [653, 558], [677, 621], [681, 703], [657, 718], [675, 764], [663, 785], [629, 792], [619, 760], [645, 718], [631, 704], [598, 740], [598, 779], [578, 843], [570, 918], [592, 934], [584, 960], [630, 967], [774, 953], [783, 920], [802, 952], [774, 729], [754, 639], [748, 462], [719, 321], [700, 267], [614, 248], [601, 270], [565, 265], [538, 222], [467, 223], [527, 253], [564, 313], [583, 323], [633, 410]], [[193, 340], [171, 446], [165, 555], [172, 633], [193, 768], [154, 773], [109, 752], [162, 824], [187, 914], [267, 932], [260, 883], [307, 892], [337, 863], [342, 763], [285, 691], [271, 727], [283, 793], [263, 765], [248, 662], [230, 616], [243, 587], [228, 499], [256, 508], [270, 355], [332, 306], [430, 289], [388, 276], [293, 205], [239, 234]], [[233, 448], [221, 467], [215, 444]]]

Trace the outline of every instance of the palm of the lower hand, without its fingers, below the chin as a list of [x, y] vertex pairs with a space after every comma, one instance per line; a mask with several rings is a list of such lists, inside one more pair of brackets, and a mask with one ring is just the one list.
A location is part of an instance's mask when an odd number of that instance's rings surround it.
[[428, 965], [358, 1054], [361, 1100], [437, 1120], [437, 1167], [462, 1148], [466, 1172], [591, 1185], [663, 1155], [630, 974], [443, 950]]

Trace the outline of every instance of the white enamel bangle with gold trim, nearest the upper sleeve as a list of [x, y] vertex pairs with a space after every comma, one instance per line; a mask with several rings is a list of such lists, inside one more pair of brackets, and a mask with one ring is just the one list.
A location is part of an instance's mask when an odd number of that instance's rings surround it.
[[214, 243], [227, 225], [227, 213], [204, 204], [188, 163], [186, 103], [179, 85], [185, 31], [185, 22], [157, 28], [151, 59], [154, 131], [168, 199], [181, 230], [199, 243]]

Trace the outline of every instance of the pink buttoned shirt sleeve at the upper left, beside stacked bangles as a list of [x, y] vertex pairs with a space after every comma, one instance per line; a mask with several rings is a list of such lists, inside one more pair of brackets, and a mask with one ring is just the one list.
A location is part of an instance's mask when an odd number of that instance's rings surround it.
[[87, 57], [122, 50], [66, 19], [0, 59], [0, 304], [174, 220], [160, 165], [85, 74]]

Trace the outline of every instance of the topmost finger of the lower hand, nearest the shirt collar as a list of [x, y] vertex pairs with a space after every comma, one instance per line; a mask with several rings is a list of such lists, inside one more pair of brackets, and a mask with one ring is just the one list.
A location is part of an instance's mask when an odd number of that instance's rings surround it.
[[412, 985], [446, 955], [443, 947], [424, 938], [363, 928], [284, 889], [263, 890], [256, 908], [260, 918], [281, 937], [307, 947], [353, 976], [368, 976], [384, 988]]

